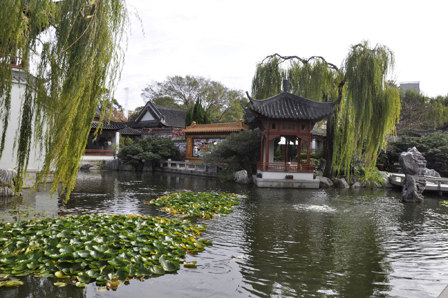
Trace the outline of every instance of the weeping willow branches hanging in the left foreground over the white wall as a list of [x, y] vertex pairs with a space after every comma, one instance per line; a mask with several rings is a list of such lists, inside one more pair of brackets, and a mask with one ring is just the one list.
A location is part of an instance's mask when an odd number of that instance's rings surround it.
[[113, 99], [113, 92], [105, 96], [102, 91], [114, 90], [119, 78], [120, 44], [130, 28], [126, 3], [2, 0], [0, 14], [0, 158], [10, 120], [10, 63], [19, 56], [27, 80], [14, 147], [16, 191], [34, 146], [42, 152], [36, 182], [47, 181], [52, 173], [51, 192], [62, 181], [68, 198], [95, 111], [101, 105], [104, 115]]

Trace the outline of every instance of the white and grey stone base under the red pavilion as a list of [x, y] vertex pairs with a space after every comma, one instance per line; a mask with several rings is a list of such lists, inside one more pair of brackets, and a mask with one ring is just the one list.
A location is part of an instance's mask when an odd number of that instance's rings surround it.
[[[258, 187], [274, 188], [319, 188], [319, 180], [313, 179], [312, 173], [280, 173], [262, 172], [263, 178], [253, 176], [253, 183]], [[293, 179], [285, 179], [285, 175], [293, 175]]]

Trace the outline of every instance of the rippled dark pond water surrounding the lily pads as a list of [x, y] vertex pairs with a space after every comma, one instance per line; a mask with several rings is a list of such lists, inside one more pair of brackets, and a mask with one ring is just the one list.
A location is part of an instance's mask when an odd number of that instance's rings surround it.
[[[80, 172], [64, 206], [48, 192], [3, 201], [0, 219], [64, 214], [167, 216], [143, 204], [180, 191], [247, 194], [233, 213], [205, 222], [213, 241], [181, 268], [116, 291], [95, 284], [55, 288], [27, 277], [5, 298], [437, 297], [448, 284], [448, 207], [438, 196], [402, 204], [395, 190], [257, 188], [161, 172]], [[445, 197], [444, 199], [447, 199]]]

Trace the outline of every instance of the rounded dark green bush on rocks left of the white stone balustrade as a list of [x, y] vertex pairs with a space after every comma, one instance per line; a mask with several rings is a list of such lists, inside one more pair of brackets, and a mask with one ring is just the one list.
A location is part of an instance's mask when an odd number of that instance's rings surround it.
[[167, 158], [177, 159], [180, 152], [173, 141], [156, 136], [125, 145], [117, 156], [123, 162], [138, 165], [142, 160], [163, 162]]

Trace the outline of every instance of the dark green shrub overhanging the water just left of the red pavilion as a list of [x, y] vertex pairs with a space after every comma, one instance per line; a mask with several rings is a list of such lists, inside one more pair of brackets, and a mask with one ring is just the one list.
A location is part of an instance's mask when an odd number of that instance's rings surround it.
[[245, 130], [230, 134], [202, 159], [211, 164], [227, 163], [228, 167], [246, 170], [251, 175], [259, 151], [260, 137], [251, 130]]

